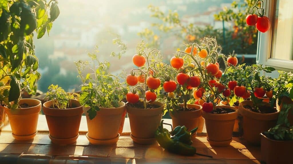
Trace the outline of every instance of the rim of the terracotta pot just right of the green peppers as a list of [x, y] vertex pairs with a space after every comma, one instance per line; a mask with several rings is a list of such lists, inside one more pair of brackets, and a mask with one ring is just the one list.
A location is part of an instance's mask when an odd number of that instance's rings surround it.
[[222, 106], [222, 105], [215, 106], [215, 108], [220, 108], [220, 107], [233, 109], [234, 112], [226, 113], [226, 114], [211, 114], [211, 113], [207, 113], [205, 111], [202, 111], [202, 117], [205, 119], [218, 120], [218, 121], [228, 121], [228, 120], [234, 120], [237, 118], [238, 109], [236, 109], [235, 107]]

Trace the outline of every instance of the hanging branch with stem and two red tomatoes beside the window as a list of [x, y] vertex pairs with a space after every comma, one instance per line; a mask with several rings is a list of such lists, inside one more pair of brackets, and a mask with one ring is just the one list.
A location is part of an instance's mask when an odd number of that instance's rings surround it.
[[[263, 7], [264, 1], [265, 0], [256, 1], [254, 6], [251, 8], [251, 14], [246, 16], [246, 24], [248, 26], [255, 26], [258, 31], [263, 33], [267, 32], [270, 29], [270, 20], [268, 17], [265, 16], [265, 9]], [[255, 12], [257, 14], [254, 14]]]

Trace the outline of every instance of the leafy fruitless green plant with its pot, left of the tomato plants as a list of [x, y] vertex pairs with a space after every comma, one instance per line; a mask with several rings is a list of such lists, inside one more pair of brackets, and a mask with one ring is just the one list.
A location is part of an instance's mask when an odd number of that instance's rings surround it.
[[[86, 114], [86, 137], [91, 144], [115, 144], [120, 136], [120, 124], [125, 119], [125, 102], [121, 100], [127, 89], [120, 83], [121, 75], [107, 73], [109, 62], [99, 62], [96, 53], [88, 55], [92, 58], [92, 68], [87, 61], [75, 62], [82, 81], [79, 102]], [[84, 68], [90, 68], [86, 76]]]

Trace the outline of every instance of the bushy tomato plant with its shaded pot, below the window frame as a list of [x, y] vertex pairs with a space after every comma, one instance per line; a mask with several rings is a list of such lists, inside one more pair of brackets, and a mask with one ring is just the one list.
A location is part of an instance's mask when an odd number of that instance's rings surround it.
[[269, 77], [260, 76], [261, 71], [270, 73], [274, 70], [272, 67], [253, 64], [251, 66], [232, 67], [229, 70], [230, 73], [228, 73], [231, 79], [237, 81], [233, 90], [234, 94], [244, 99], [250, 96], [249, 101], [241, 100], [239, 112], [243, 117], [243, 138], [252, 144], [260, 144], [260, 132], [268, 130], [277, 122], [279, 111], [268, 102], [259, 99], [271, 87]]

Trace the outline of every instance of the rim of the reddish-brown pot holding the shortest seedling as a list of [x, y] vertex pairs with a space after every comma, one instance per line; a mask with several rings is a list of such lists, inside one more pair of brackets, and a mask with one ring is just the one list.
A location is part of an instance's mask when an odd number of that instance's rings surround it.
[[68, 109], [55, 109], [55, 108], [50, 108], [50, 106], [52, 105], [52, 100], [50, 100], [43, 104], [43, 112], [45, 115], [55, 116], [55, 117], [77, 116], [77, 115], [81, 115], [84, 112], [82, 110], [81, 104], [77, 100], [71, 99], [71, 103], [76, 104], [77, 107], [68, 108]]

